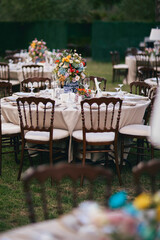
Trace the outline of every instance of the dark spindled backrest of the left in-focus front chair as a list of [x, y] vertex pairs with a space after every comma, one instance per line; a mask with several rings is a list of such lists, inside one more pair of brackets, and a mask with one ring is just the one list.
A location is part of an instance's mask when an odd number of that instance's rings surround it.
[[17, 99], [21, 135], [24, 131], [43, 131], [53, 137], [55, 101], [41, 97], [23, 97]]

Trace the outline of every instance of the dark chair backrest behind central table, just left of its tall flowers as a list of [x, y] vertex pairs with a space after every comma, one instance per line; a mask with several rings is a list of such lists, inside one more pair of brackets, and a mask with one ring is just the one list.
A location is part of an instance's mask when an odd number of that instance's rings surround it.
[[26, 78], [21, 82], [23, 92], [30, 92], [30, 84], [36, 89], [36, 91], [46, 89], [46, 83], [48, 82], [48, 88], [51, 88], [51, 79], [43, 77]]

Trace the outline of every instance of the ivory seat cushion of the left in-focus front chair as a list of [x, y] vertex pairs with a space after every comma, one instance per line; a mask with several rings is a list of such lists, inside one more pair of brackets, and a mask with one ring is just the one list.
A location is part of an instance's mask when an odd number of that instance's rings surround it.
[[[60, 140], [62, 138], [66, 138], [69, 136], [69, 132], [63, 129], [54, 129], [53, 130], [53, 140]], [[25, 134], [26, 140], [41, 140], [41, 141], [49, 141], [49, 133], [48, 132], [40, 132], [40, 131], [28, 131]]]

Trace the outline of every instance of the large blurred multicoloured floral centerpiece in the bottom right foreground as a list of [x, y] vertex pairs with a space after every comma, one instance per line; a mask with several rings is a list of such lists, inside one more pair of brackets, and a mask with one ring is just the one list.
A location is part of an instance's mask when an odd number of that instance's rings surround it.
[[154, 195], [142, 193], [132, 202], [125, 191], [120, 191], [110, 197], [108, 205], [104, 208], [95, 202], [83, 202], [75, 209], [77, 234], [82, 234], [82, 239], [160, 239], [160, 191]]

